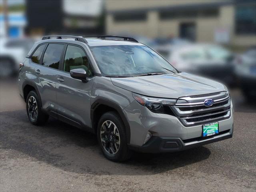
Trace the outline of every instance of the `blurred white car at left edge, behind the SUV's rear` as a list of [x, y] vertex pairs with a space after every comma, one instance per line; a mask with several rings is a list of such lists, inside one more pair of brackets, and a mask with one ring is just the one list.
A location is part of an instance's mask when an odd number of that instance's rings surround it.
[[31, 38], [1, 38], [0, 39], [0, 77], [18, 73], [19, 64], [33, 46]]

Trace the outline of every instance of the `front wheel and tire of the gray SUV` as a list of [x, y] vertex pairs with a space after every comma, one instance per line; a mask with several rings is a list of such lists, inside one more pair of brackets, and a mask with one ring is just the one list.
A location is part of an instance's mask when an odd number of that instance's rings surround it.
[[107, 159], [122, 162], [130, 158], [131, 151], [127, 146], [124, 123], [118, 113], [106, 112], [100, 117], [97, 137], [100, 148]]

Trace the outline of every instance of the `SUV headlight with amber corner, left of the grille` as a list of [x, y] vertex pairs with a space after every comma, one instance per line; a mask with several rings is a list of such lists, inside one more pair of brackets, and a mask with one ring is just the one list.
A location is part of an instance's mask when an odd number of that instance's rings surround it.
[[132, 93], [132, 95], [139, 104], [146, 106], [154, 113], [170, 114], [171, 111], [168, 106], [172, 106], [176, 103], [176, 99], [148, 97], [136, 93]]

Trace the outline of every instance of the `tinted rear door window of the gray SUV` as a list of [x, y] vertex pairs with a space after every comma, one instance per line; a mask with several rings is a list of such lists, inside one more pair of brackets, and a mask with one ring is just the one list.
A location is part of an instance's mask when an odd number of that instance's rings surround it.
[[49, 44], [44, 53], [42, 65], [58, 69], [64, 44]]

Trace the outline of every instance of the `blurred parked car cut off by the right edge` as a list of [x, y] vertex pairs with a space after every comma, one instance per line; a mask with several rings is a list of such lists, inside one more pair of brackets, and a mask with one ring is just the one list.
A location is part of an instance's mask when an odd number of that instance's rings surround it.
[[256, 97], [256, 46], [234, 60], [235, 75], [247, 99]]

